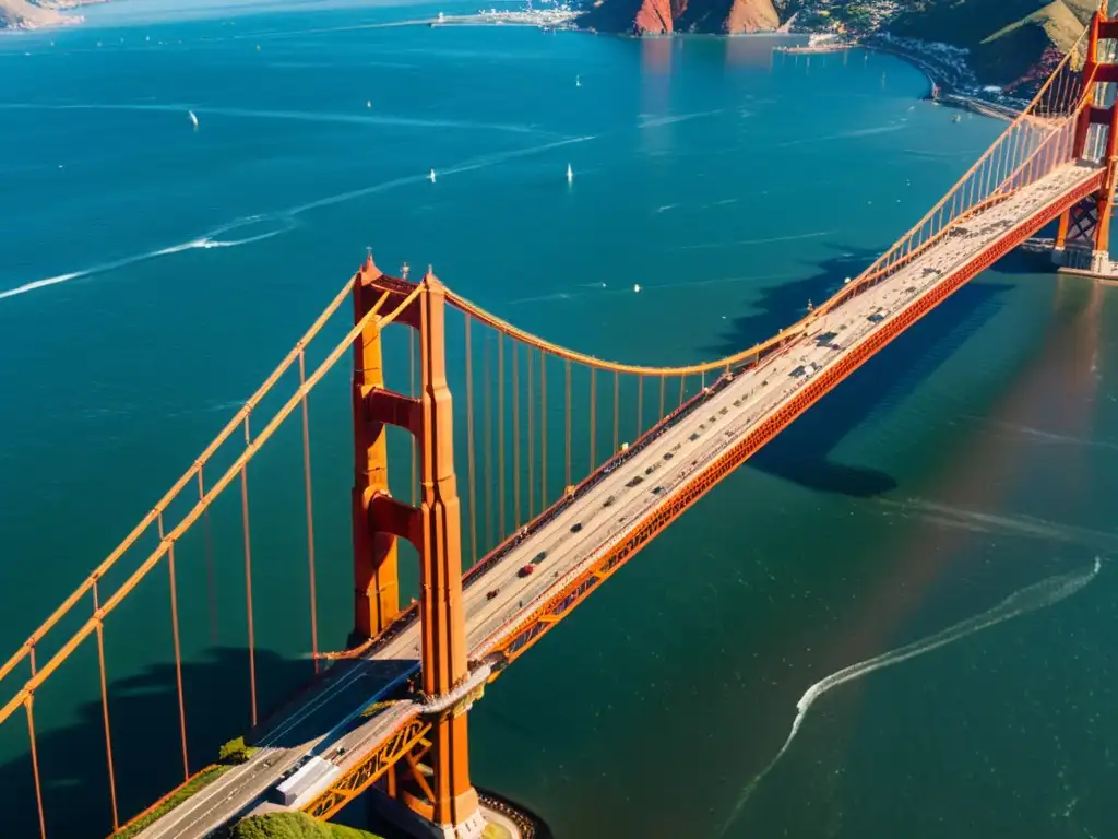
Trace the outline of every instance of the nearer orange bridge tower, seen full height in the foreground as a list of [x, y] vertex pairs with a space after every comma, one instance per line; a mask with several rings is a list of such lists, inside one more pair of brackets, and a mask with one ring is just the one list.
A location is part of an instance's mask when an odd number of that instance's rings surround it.
[[[359, 641], [373, 638], [399, 613], [396, 539], [406, 538], [419, 554], [420, 672], [432, 707], [425, 753], [429, 781], [416, 758], [407, 763], [416, 784], [388, 791], [446, 837], [475, 839], [485, 828], [477, 793], [470, 780], [466, 727], [472, 687], [466, 650], [466, 611], [462, 591], [462, 526], [454, 474], [451, 390], [446, 381], [446, 290], [429, 270], [414, 286], [382, 274], [370, 255], [354, 282], [354, 315], [376, 307], [402, 305], [396, 323], [419, 337], [420, 393], [405, 396], [385, 386], [382, 348], [376, 319], [354, 341], [353, 487], [354, 626]], [[410, 300], [410, 302], [408, 302]], [[388, 491], [385, 426], [409, 431], [419, 454], [419, 505], [394, 499]], [[463, 694], [463, 701], [454, 701]], [[442, 700], [442, 701], [440, 701]]]

